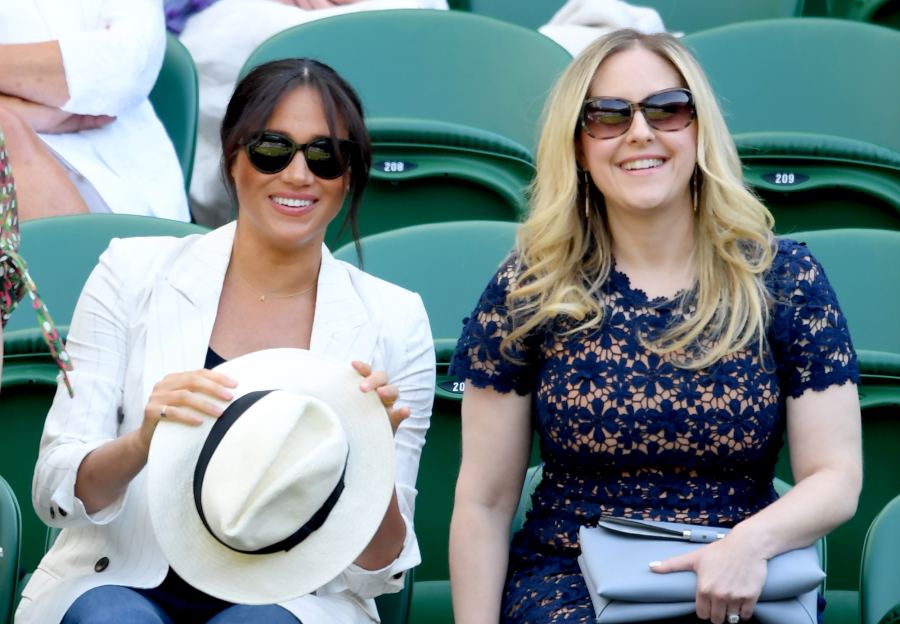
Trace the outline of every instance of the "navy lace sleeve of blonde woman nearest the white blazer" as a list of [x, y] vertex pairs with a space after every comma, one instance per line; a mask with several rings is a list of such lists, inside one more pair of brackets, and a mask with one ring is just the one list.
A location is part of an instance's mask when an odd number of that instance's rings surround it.
[[463, 320], [450, 374], [476, 388], [493, 388], [504, 394], [515, 391], [524, 396], [535, 384], [536, 336], [516, 341], [506, 353], [500, 348], [513, 329], [506, 295], [519, 271], [516, 257], [509, 256], [484, 289], [472, 314]]

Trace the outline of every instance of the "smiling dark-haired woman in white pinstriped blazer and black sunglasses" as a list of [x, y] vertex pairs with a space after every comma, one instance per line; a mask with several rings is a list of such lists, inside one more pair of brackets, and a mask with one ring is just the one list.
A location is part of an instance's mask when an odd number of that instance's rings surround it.
[[[238, 85], [222, 145], [236, 222], [203, 236], [113, 241], [78, 302], [68, 340], [75, 398], [58, 391], [34, 478], [35, 509], [63, 531], [24, 589], [19, 624], [375, 622], [372, 598], [398, 591], [420, 561], [415, 479], [435, 366], [425, 310], [418, 295], [323, 244], [345, 199], [355, 222], [368, 177], [359, 99], [315, 61], [263, 65]], [[337, 578], [283, 605], [233, 606], [170, 569], [143, 468], [161, 418], [191, 426], [187, 408], [215, 417], [207, 397], [228, 400], [234, 381], [208, 369], [272, 347], [356, 361], [361, 388], [377, 392], [395, 429], [395, 494]]]

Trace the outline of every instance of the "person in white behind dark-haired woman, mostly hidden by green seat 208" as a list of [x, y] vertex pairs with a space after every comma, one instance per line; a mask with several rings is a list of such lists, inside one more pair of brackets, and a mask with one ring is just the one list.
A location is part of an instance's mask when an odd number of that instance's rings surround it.
[[200, 119], [190, 189], [197, 221], [214, 227], [234, 218], [218, 174], [222, 153], [219, 125], [238, 73], [259, 44], [292, 26], [342, 13], [447, 8], [446, 0], [218, 0], [188, 18], [181, 42], [194, 58], [200, 78]]

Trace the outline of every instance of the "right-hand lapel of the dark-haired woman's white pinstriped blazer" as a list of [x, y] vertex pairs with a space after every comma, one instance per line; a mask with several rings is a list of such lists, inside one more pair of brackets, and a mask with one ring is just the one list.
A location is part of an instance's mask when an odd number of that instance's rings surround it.
[[377, 337], [348, 267], [323, 245], [310, 351], [371, 363]]

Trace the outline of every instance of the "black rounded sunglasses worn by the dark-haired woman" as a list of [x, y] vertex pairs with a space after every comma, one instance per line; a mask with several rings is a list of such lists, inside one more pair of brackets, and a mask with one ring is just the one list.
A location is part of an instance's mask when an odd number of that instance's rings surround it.
[[303, 152], [306, 166], [314, 176], [334, 180], [344, 175], [350, 166], [356, 143], [328, 137], [309, 143], [294, 143], [290, 137], [266, 130], [250, 139], [245, 146], [250, 164], [260, 173], [283, 171], [291, 164], [294, 154]]

